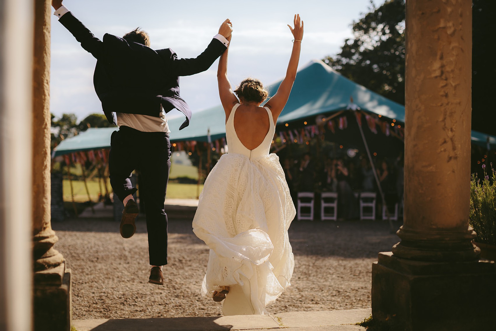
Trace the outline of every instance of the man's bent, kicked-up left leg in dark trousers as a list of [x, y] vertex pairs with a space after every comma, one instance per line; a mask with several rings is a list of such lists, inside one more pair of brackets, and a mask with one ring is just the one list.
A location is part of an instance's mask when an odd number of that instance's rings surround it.
[[[121, 201], [136, 192], [131, 184], [131, 173], [136, 168], [136, 138], [133, 129], [122, 127], [114, 131], [110, 139], [109, 174], [110, 185]], [[133, 154], [131, 154], [131, 152]]]

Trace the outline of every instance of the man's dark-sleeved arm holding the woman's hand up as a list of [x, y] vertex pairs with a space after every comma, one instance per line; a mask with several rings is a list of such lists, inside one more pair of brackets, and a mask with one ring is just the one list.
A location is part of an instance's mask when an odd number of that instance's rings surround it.
[[212, 63], [227, 49], [227, 38], [231, 35], [233, 27], [231, 21], [226, 19], [219, 28], [219, 33], [212, 39], [208, 47], [195, 58], [178, 58], [176, 53], [171, 55], [171, 71], [176, 76], [189, 76], [210, 68]]

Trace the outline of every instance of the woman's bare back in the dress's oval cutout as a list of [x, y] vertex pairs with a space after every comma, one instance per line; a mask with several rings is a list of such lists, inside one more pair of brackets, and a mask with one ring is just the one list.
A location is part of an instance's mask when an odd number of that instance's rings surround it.
[[269, 116], [263, 107], [240, 105], [234, 113], [234, 130], [241, 143], [253, 150], [269, 132]]

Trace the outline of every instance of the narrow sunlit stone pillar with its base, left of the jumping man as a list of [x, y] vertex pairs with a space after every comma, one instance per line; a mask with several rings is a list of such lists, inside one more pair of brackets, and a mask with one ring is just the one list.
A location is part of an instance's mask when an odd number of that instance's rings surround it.
[[50, 15], [51, 1], [35, 0], [33, 62], [34, 330], [70, 330], [70, 270], [53, 248], [50, 222]]

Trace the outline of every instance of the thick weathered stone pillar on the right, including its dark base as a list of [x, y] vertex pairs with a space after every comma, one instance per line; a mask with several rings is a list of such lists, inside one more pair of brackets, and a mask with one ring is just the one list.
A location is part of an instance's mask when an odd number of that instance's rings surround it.
[[372, 317], [393, 330], [483, 330], [496, 269], [468, 225], [471, 1], [406, 1], [406, 51], [404, 223], [372, 265]]

